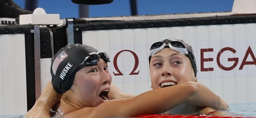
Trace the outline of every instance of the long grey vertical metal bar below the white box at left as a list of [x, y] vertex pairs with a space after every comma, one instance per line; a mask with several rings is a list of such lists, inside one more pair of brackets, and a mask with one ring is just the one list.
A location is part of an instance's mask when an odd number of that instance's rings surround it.
[[34, 60], [35, 60], [35, 100], [41, 95], [41, 66], [40, 66], [40, 29], [33, 26], [34, 36]]

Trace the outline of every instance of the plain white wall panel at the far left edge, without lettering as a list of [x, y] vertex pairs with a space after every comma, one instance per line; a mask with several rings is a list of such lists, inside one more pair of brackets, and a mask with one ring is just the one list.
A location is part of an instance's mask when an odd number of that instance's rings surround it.
[[0, 35], [0, 115], [27, 111], [24, 34]]

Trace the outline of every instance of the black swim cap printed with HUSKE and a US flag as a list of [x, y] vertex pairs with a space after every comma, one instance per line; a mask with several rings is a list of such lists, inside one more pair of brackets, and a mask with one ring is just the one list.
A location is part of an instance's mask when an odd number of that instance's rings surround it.
[[72, 87], [75, 73], [81, 69], [77, 67], [91, 52], [98, 50], [81, 44], [68, 44], [58, 50], [51, 65], [52, 84], [56, 92], [63, 94]]

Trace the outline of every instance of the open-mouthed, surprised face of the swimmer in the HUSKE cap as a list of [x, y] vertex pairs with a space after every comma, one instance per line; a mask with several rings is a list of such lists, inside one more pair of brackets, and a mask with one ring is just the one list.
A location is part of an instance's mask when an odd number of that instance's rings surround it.
[[108, 64], [100, 58], [95, 66], [85, 66], [77, 71], [71, 89], [83, 107], [96, 107], [109, 100], [111, 81]]

